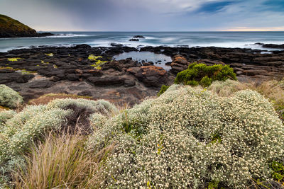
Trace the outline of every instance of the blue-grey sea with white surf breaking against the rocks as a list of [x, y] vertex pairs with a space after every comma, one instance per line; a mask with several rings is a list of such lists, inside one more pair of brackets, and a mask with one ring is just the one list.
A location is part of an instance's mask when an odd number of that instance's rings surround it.
[[[43, 38], [2, 38], [0, 52], [28, 47], [87, 44], [92, 47], [110, 47], [118, 43], [131, 47], [188, 45], [188, 47], [241, 47], [271, 50], [254, 45], [256, 42], [284, 44], [284, 32], [53, 32]], [[145, 39], [129, 41], [133, 35]], [[274, 49], [275, 50], [275, 49]]]

